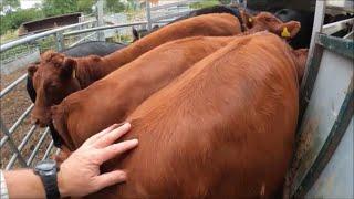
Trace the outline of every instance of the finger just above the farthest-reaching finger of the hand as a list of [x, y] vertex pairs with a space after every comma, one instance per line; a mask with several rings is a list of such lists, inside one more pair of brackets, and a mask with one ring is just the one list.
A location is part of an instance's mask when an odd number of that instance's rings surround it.
[[105, 134], [104, 136], [100, 137], [98, 140], [95, 142], [95, 146], [106, 147], [117, 140], [119, 137], [122, 137], [125, 133], [127, 133], [131, 129], [131, 124], [125, 123], [124, 125], [111, 130], [108, 134]]

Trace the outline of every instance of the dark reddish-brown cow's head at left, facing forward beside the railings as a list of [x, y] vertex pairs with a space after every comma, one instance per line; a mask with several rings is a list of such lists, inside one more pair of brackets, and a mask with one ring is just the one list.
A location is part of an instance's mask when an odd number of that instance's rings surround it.
[[28, 67], [29, 78], [32, 80], [37, 94], [32, 111], [32, 121], [35, 124], [41, 127], [49, 125], [50, 107], [80, 90], [75, 73], [76, 61], [53, 51], [43, 53], [39, 64]]

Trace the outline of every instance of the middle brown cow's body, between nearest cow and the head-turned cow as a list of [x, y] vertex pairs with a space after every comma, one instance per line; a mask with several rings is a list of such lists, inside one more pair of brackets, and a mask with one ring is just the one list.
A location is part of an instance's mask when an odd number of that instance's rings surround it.
[[[283, 25], [299, 31], [296, 25], [300, 24], [289, 22]], [[74, 150], [107, 125], [123, 121], [150, 94], [167, 85], [197, 61], [223, 46], [226, 43], [221, 41], [223, 39], [195, 38], [170, 42], [146, 53], [86, 90], [69, 96], [53, 108], [52, 113], [54, 126], [64, 139], [64, 145]], [[133, 92], [126, 92], [129, 90]], [[65, 146], [62, 148], [67, 151]], [[62, 159], [65, 159], [63, 154], [58, 160]]]

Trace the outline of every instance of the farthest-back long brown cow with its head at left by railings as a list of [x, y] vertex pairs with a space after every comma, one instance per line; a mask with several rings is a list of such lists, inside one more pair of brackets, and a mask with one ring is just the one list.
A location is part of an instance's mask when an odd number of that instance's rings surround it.
[[66, 57], [61, 53], [46, 52], [39, 66], [29, 67], [38, 94], [32, 112], [33, 121], [40, 126], [50, 122], [50, 107], [65, 96], [102, 78], [117, 67], [132, 62], [145, 52], [168, 41], [196, 35], [235, 35], [241, 32], [239, 20], [231, 14], [200, 15], [174, 24], [107, 56]]

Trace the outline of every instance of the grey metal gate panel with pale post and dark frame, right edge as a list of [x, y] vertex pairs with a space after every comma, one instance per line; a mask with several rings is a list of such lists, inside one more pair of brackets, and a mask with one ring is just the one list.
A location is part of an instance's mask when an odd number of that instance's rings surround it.
[[[296, 151], [284, 187], [291, 198], [354, 198], [354, 19], [323, 25], [333, 10], [353, 14], [353, 1], [315, 2]], [[331, 35], [346, 25], [348, 34]]]

